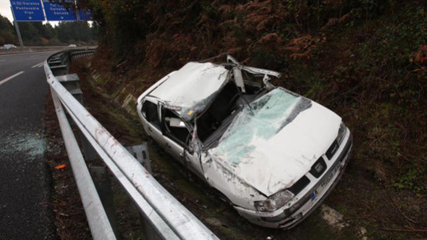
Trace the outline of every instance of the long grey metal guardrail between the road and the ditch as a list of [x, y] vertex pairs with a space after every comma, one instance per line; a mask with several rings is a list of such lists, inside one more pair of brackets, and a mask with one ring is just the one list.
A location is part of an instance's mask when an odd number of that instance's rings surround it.
[[62, 51], [50, 56], [44, 65], [66, 151], [93, 238], [115, 239], [115, 234], [64, 109], [139, 208], [146, 224], [146, 239], [217, 240], [213, 232], [167, 192], [58, 80], [72, 79], [73, 75], [68, 75], [69, 63], [94, 52], [93, 48]]

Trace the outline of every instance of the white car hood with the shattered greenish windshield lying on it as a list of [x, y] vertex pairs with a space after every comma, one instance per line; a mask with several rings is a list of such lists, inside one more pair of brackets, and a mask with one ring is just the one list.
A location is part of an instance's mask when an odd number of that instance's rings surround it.
[[322, 105], [275, 89], [246, 106], [213, 159], [269, 196], [305, 175], [337, 136], [341, 117]]

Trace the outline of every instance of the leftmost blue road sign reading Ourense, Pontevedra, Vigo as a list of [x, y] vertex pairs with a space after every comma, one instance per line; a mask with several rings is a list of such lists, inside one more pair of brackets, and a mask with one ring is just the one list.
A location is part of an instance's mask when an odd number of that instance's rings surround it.
[[40, 0], [10, 0], [15, 20], [40, 22], [45, 20]]

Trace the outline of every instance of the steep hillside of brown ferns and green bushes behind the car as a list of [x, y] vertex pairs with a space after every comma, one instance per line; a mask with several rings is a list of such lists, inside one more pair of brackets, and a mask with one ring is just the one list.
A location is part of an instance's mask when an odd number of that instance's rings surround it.
[[[223, 52], [280, 71], [277, 85], [326, 105], [354, 133], [343, 178], [348, 182], [341, 185], [348, 189], [339, 191], [347, 198], [329, 201], [375, 229], [426, 227], [426, 1], [80, 4], [94, 10], [99, 24], [92, 67], [103, 75], [99, 84], [106, 91], [125, 88], [137, 97], [167, 72]], [[408, 224], [401, 211], [416, 224]], [[374, 236], [390, 237], [382, 234], [388, 232]]]

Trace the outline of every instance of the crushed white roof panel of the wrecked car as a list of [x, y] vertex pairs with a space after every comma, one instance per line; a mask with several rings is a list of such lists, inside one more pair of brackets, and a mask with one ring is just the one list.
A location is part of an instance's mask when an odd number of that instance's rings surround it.
[[228, 80], [228, 69], [212, 63], [188, 63], [170, 75], [150, 96], [162, 99], [182, 117], [203, 111]]

